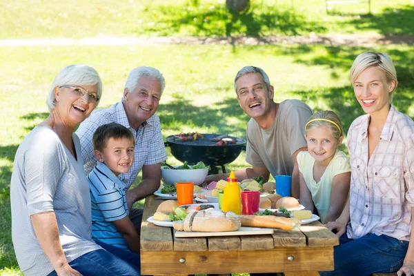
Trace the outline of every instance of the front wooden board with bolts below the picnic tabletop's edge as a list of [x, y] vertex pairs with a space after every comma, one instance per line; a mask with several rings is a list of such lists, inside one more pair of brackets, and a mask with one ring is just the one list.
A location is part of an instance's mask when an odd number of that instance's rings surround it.
[[[263, 256], [266, 256], [266, 262], [259, 261]], [[289, 256], [293, 257], [291, 262], [288, 261]], [[141, 252], [141, 264], [143, 275], [333, 270], [333, 247], [206, 252], [144, 251]]]

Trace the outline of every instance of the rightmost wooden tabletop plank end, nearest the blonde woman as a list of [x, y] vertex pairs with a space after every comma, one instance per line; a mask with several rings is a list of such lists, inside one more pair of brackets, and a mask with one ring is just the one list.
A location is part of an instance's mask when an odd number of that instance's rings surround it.
[[339, 238], [328, 230], [319, 221], [300, 226], [300, 230], [306, 236], [306, 243], [309, 247], [337, 246]]

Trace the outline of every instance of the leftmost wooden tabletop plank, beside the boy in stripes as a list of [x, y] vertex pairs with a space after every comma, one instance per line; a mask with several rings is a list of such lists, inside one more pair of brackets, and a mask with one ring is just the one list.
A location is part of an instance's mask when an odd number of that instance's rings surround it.
[[172, 228], [156, 226], [146, 221], [154, 215], [161, 202], [162, 200], [154, 199], [153, 195], [146, 197], [141, 223], [141, 252], [174, 250]]

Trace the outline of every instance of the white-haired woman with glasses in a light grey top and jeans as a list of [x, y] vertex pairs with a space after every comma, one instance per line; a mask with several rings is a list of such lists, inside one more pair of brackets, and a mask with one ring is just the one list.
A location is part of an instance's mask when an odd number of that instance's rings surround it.
[[63, 68], [49, 117], [21, 142], [10, 187], [12, 240], [24, 275], [139, 275], [91, 239], [88, 181], [73, 133], [97, 106], [102, 82], [89, 66]]

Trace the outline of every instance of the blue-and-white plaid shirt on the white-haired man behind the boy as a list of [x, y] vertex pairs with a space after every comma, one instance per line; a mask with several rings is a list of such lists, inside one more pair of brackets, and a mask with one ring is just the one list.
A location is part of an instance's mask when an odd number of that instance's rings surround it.
[[161, 124], [158, 115], [154, 114], [139, 128], [131, 128], [122, 102], [115, 103], [110, 108], [94, 110], [76, 131], [81, 140], [83, 166], [87, 175], [97, 165], [97, 159], [93, 155], [92, 136], [99, 126], [112, 122], [125, 126], [135, 137], [134, 163], [127, 173], [119, 175], [126, 188], [129, 188], [142, 166], [157, 164], [167, 159]]

